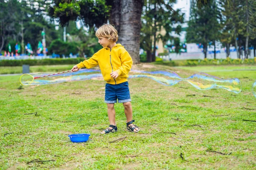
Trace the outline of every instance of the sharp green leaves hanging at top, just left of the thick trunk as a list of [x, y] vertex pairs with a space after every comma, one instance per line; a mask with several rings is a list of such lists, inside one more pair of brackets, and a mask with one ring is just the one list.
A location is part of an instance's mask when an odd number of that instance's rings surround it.
[[70, 21], [81, 19], [85, 26], [93, 28], [106, 23], [110, 16], [111, 6], [105, 0], [54, 0], [49, 8], [49, 15], [56, 18], [61, 26]]

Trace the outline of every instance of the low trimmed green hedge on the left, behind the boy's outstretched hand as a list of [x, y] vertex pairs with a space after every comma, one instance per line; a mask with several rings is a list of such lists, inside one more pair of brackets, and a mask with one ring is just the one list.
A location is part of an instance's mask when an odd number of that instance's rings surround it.
[[77, 64], [84, 61], [84, 58], [69, 58], [69, 59], [13, 59], [0, 60], [0, 66], [22, 66], [27, 65], [64, 65]]

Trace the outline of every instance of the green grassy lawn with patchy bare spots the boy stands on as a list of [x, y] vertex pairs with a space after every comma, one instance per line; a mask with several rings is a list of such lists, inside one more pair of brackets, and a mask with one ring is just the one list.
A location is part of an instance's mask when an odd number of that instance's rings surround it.
[[[171, 69], [181, 77], [214, 70], [208, 74], [239, 78], [242, 91], [199, 91], [186, 82], [170, 87], [146, 78], [129, 79], [135, 124], [141, 130], [125, 130], [123, 106], [116, 104], [119, 131], [101, 135], [109, 125], [105, 82], [18, 89], [20, 76], [0, 77], [0, 169], [256, 169], [256, 122], [244, 121], [256, 121], [251, 92], [255, 71], [222, 71], [255, 66], [137, 67]], [[58, 71], [67, 68], [72, 67]], [[26, 114], [34, 112], [37, 115]], [[73, 133], [90, 133], [90, 140], [72, 143], [68, 135]]]

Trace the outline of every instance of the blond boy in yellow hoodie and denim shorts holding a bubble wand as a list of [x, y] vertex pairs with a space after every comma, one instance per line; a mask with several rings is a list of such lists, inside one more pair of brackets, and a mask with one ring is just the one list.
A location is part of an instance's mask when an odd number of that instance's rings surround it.
[[75, 65], [71, 71], [78, 71], [80, 68], [92, 68], [99, 65], [105, 86], [105, 103], [108, 106], [108, 119], [110, 125], [102, 131], [107, 134], [117, 131], [116, 112], [114, 103], [118, 99], [125, 108], [126, 128], [131, 132], [137, 133], [139, 127], [133, 124], [131, 97], [128, 87], [128, 72], [131, 70], [132, 59], [130, 54], [121, 44], [116, 44], [118, 35], [116, 29], [110, 24], [101, 26], [96, 31], [96, 37], [102, 49], [96, 52], [90, 59], [84, 60]]

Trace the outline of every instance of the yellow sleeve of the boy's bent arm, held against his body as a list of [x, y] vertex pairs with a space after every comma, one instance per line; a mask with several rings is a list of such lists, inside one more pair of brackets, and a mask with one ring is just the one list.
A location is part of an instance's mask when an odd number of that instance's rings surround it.
[[122, 52], [120, 59], [121, 59], [121, 67], [119, 67], [118, 70], [116, 70], [119, 76], [121, 74], [128, 74], [128, 72], [131, 70], [131, 65], [132, 65], [131, 56], [126, 50]]

